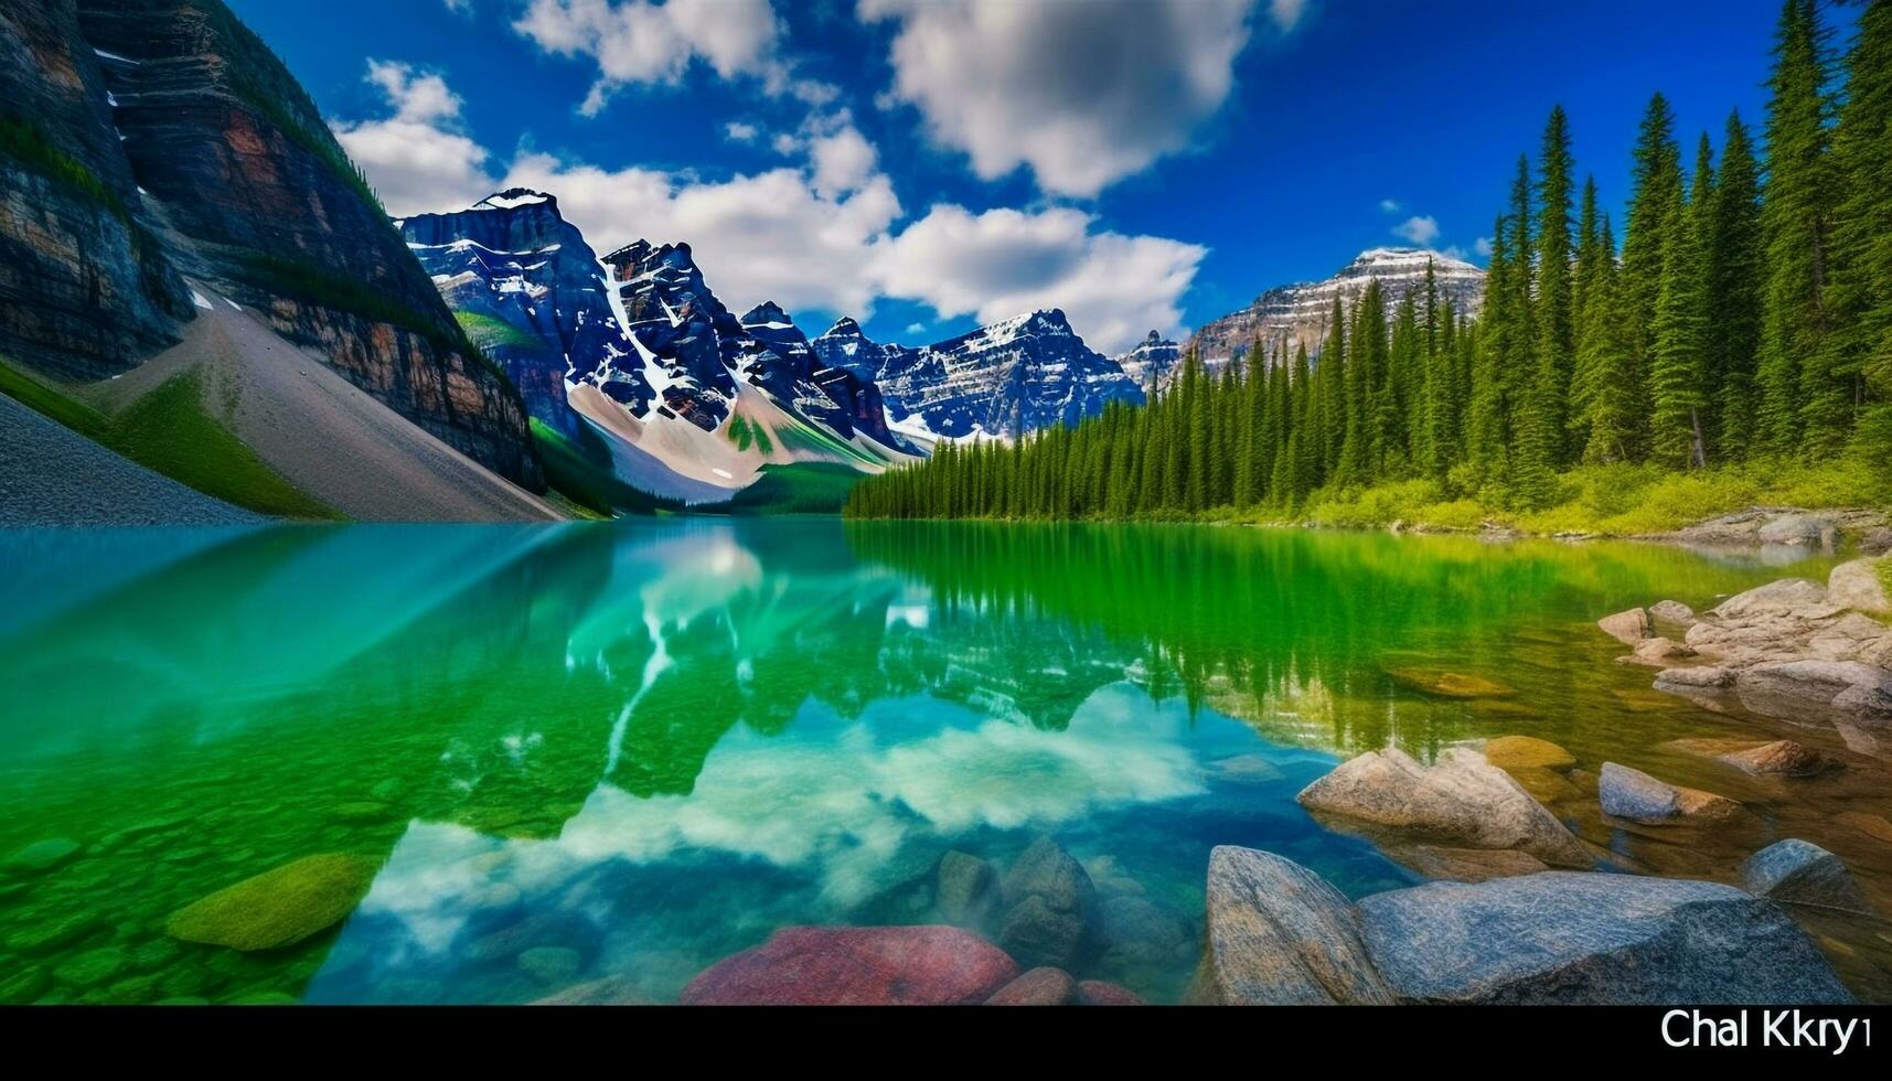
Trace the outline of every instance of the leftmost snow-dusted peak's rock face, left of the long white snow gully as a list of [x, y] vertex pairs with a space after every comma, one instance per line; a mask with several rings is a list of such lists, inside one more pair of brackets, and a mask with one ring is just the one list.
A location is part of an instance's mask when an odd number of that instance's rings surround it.
[[[505, 367], [526, 409], [575, 434], [566, 379], [636, 350], [611, 310], [604, 263], [558, 214], [558, 199], [499, 191], [467, 210], [418, 214], [395, 227], [467, 335]], [[626, 375], [630, 396], [649, 401], [641, 367]]]

